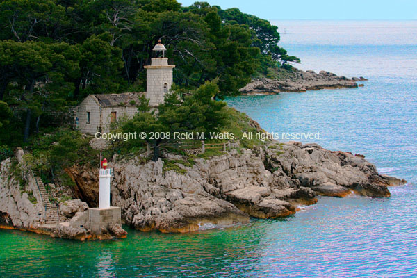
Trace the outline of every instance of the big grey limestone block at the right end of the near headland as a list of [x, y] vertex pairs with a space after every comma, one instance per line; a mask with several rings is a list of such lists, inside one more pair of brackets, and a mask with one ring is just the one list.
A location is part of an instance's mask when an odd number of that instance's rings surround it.
[[390, 195], [388, 179], [379, 176], [375, 165], [362, 156], [328, 151], [317, 144], [288, 142], [281, 147], [284, 154], [279, 156], [267, 149], [266, 163], [277, 170], [274, 174], [298, 179], [320, 195], [343, 197], [352, 191], [370, 197]]

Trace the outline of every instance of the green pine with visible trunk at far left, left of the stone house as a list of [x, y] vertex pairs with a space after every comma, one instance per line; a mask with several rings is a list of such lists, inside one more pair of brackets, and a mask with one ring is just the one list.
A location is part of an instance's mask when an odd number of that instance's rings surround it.
[[64, 42], [46, 44], [44, 42], [3, 42], [10, 57], [13, 81], [17, 86], [10, 90], [8, 101], [26, 108], [24, 122], [24, 141], [27, 142], [31, 119], [39, 116], [46, 99], [65, 98], [67, 93], [65, 79], [79, 72], [79, 52], [76, 47]]

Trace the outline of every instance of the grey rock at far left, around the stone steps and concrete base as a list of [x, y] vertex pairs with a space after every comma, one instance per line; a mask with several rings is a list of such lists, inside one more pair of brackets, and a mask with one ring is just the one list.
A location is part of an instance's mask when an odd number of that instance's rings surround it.
[[60, 203], [60, 222], [47, 224], [35, 178], [25, 167], [20, 151], [16, 158], [8, 158], [0, 165], [0, 228], [77, 240], [126, 237], [126, 231], [117, 223], [109, 223], [99, 234], [88, 229], [88, 205], [80, 199]]

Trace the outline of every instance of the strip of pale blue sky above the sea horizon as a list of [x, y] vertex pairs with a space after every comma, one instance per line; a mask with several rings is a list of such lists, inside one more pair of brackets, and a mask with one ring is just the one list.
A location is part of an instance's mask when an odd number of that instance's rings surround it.
[[[195, 0], [177, 0], [190, 6]], [[269, 20], [417, 19], [417, 0], [206, 0], [224, 9], [239, 8], [243, 13]]]

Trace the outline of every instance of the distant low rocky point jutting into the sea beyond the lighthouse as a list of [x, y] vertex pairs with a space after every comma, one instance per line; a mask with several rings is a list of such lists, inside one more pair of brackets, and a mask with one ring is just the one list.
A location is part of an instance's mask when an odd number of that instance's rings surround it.
[[276, 79], [258, 78], [252, 79], [240, 92], [244, 95], [268, 95], [279, 92], [306, 92], [306, 90], [357, 88], [363, 86], [357, 81], [366, 81], [363, 77], [349, 79], [345, 76], [337, 76], [331, 72], [319, 73], [307, 70], [295, 69], [293, 72], [282, 71]]

